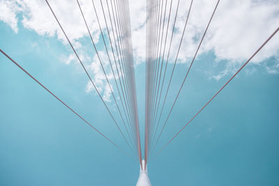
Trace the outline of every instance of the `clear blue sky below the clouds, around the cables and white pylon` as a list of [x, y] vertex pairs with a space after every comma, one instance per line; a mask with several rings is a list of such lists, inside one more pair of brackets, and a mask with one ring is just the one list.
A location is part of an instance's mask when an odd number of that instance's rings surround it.
[[[98, 95], [86, 91], [89, 79], [81, 66], [75, 59], [66, 64], [73, 54], [69, 46], [55, 35], [42, 36], [27, 28], [18, 16], [17, 32], [0, 22], [0, 48], [128, 151]], [[86, 54], [93, 58], [88, 36], [78, 42], [82, 44], [80, 51], [87, 49]], [[278, 45], [278, 37], [273, 45]], [[98, 47], [103, 47], [101, 42]], [[140, 45], [135, 44], [137, 47]], [[150, 160], [149, 178], [153, 185], [279, 184], [279, 74], [270, 70], [276, 70], [278, 52], [264, 54], [268, 57], [246, 66], [171, 145]], [[223, 86], [234, 68], [245, 62], [230, 63], [222, 56], [218, 49], [204, 49], [199, 55], [159, 146]], [[239, 59], [242, 57], [245, 58]], [[140, 54], [135, 59], [143, 144], [145, 63], [139, 61]], [[140, 169], [136, 158], [124, 155], [105, 141], [5, 56], [0, 55], [0, 62], [0, 185], [135, 185]], [[187, 68], [188, 63], [177, 66], [163, 116]], [[116, 115], [115, 105], [108, 104]]]

